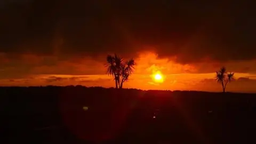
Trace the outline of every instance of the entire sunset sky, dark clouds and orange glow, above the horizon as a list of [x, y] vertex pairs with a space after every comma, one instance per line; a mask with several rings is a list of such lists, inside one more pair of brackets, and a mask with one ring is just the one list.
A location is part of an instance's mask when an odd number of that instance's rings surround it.
[[227, 91], [256, 92], [250, 2], [1, 1], [0, 85], [115, 87], [104, 64], [117, 53], [137, 63], [127, 88], [221, 91], [214, 76], [226, 66]]

